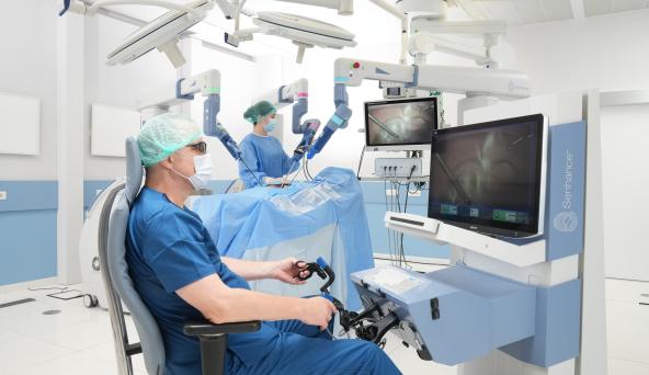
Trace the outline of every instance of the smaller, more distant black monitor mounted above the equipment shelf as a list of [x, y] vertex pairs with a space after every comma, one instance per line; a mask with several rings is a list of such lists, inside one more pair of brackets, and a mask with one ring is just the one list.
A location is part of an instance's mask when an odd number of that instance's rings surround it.
[[430, 144], [436, 115], [434, 101], [371, 105], [368, 145]]

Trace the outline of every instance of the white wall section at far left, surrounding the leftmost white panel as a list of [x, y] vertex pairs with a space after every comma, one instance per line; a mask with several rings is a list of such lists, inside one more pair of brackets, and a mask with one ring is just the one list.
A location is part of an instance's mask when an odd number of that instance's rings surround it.
[[55, 11], [49, 1], [2, 3], [0, 91], [41, 99], [41, 155], [0, 154], [1, 180], [56, 180]]

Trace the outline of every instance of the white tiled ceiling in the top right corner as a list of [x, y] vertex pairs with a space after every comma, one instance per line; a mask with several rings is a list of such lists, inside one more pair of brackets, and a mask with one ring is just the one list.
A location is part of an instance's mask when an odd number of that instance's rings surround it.
[[455, 0], [474, 18], [511, 24], [565, 21], [649, 8], [649, 0]]

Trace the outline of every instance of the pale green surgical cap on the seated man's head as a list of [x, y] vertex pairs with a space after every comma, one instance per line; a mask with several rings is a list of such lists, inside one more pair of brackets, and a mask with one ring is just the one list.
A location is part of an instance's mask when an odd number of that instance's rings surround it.
[[143, 164], [155, 166], [202, 136], [201, 127], [186, 116], [178, 113], [158, 115], [147, 121], [137, 136]]

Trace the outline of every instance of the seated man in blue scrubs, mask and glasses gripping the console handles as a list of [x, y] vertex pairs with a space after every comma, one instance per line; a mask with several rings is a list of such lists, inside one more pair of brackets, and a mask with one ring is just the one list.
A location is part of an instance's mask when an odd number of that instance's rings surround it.
[[133, 284], [156, 318], [166, 349], [164, 374], [201, 374], [198, 341], [186, 320], [215, 323], [261, 320], [257, 332], [230, 334], [228, 374], [399, 374], [375, 344], [332, 340], [334, 306], [326, 298], [253, 292], [252, 280], [301, 284], [308, 273], [288, 258], [254, 262], [220, 257], [201, 218], [185, 207], [213, 173], [201, 128], [163, 114], [137, 137], [145, 185], [132, 205], [126, 261]]

